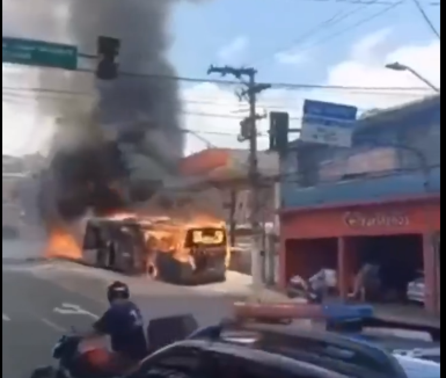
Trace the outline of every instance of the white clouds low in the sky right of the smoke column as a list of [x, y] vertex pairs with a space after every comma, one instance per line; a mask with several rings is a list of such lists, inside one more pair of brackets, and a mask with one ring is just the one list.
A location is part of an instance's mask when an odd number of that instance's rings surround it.
[[[352, 86], [352, 87], [393, 87], [412, 88], [425, 87], [423, 83], [409, 72], [397, 72], [386, 69], [384, 66], [390, 62], [401, 62], [412, 67], [423, 77], [440, 87], [440, 42], [435, 40], [425, 44], [401, 46], [393, 51], [388, 51], [385, 38], [391, 33], [390, 29], [380, 30], [360, 41], [351, 48], [347, 59], [332, 66], [327, 72], [327, 85]], [[360, 110], [371, 108], [388, 108], [397, 104], [420, 99], [429, 95], [427, 89], [422, 91], [386, 91], [372, 90], [347, 91], [347, 90], [312, 90], [312, 91], [287, 91], [269, 90], [260, 98], [262, 109], [268, 111], [288, 111], [293, 118], [292, 127], [299, 127], [299, 116], [305, 98], [333, 101], [343, 104], [358, 106]], [[246, 113], [237, 113], [240, 109], [238, 100], [233, 95], [232, 89], [219, 88], [210, 84], [198, 85], [184, 92], [186, 101], [189, 101], [190, 112], [216, 113], [219, 115], [240, 115], [239, 119], [194, 116], [185, 118], [186, 127], [203, 131], [202, 137], [206, 137], [213, 144], [221, 147], [243, 148], [246, 144], [237, 142], [235, 134], [239, 132], [240, 119]], [[211, 104], [200, 103], [196, 99], [207, 99]], [[263, 111], [263, 110], [262, 110]], [[268, 125], [260, 123], [260, 129], [265, 132]], [[211, 133], [232, 133], [233, 136], [219, 136]], [[266, 148], [268, 138], [259, 138], [259, 147]], [[206, 148], [206, 143], [189, 136], [186, 150], [188, 152]]]

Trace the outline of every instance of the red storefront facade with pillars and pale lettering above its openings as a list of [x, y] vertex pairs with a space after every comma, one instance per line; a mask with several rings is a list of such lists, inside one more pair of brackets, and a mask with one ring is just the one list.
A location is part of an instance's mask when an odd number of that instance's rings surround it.
[[[440, 310], [440, 196], [387, 203], [290, 209], [281, 213], [280, 283], [317, 264], [318, 250], [335, 244], [339, 292], [346, 297], [361, 237], [419, 235], [425, 273], [425, 306]], [[398, 251], [396, 253], [404, 253]], [[302, 274], [305, 275], [305, 272]]]

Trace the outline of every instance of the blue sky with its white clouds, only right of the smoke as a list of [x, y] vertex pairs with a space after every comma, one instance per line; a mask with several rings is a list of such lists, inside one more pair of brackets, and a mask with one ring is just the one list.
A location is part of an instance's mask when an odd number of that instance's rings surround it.
[[[429, 1], [421, 0], [421, 4], [440, 30], [440, 7], [432, 6]], [[259, 70], [258, 79], [266, 82], [422, 86], [408, 74], [384, 69], [388, 60], [404, 60], [405, 64], [413, 66], [439, 85], [440, 44], [438, 40], [435, 42], [434, 33], [426, 25], [413, 0], [405, 0], [393, 8], [387, 0], [371, 2], [375, 4], [352, 4], [354, 0], [183, 2], [176, 7], [172, 19], [174, 39], [171, 59], [179, 75], [199, 78], [206, 77], [211, 63], [227, 63], [255, 66]], [[434, 47], [432, 43], [436, 43]], [[284, 62], [284, 58], [293, 59]], [[438, 59], [438, 62], [431, 62], [433, 59]], [[186, 100], [211, 98], [220, 105], [192, 104], [187, 106], [188, 109], [206, 113], [228, 111], [228, 107], [221, 103], [231, 102], [233, 95], [230, 91], [206, 87], [202, 92], [189, 90]], [[296, 117], [299, 116], [302, 100], [309, 96], [354, 104], [363, 109], [416, 100], [415, 97], [403, 96], [341, 96], [326, 91], [310, 94], [282, 91], [272, 95], [268, 93], [267, 96], [274, 97], [275, 104], [283, 104], [284, 110]], [[234, 108], [237, 101], [232, 101]], [[267, 102], [271, 103], [271, 100]], [[234, 136], [214, 136], [207, 132], [216, 130], [236, 134], [238, 122], [186, 116], [186, 127], [201, 130], [201, 136], [214, 145], [225, 147], [241, 145]], [[267, 139], [263, 138], [260, 145], [266, 146], [266, 142]], [[193, 152], [205, 146], [205, 142], [191, 136], [186, 150]]]

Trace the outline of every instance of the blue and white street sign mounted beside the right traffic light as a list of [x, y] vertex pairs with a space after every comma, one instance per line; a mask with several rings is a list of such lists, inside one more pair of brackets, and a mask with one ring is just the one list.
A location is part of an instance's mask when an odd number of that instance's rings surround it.
[[358, 108], [351, 105], [305, 100], [301, 141], [350, 147]]

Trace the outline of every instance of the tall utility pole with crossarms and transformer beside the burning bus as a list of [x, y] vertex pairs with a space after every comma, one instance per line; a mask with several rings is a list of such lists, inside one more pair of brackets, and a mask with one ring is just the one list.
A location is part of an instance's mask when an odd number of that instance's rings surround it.
[[[240, 122], [240, 142], [249, 141], [249, 182], [251, 185], [251, 226], [254, 239], [254, 247], [251, 252], [251, 272], [252, 272], [252, 299], [260, 301], [262, 290], [262, 259], [260, 252], [262, 249], [262, 216], [261, 216], [261, 188], [260, 172], [257, 156], [257, 120], [263, 118], [256, 112], [257, 95], [271, 87], [269, 84], [256, 83], [257, 70], [249, 68], [234, 68], [231, 66], [215, 67], [211, 66], [207, 71], [210, 74], [220, 74], [222, 76], [232, 75], [239, 79], [244, 88], [237, 96], [241, 100], [248, 100], [249, 116]], [[244, 81], [244, 79], [248, 79]]]

